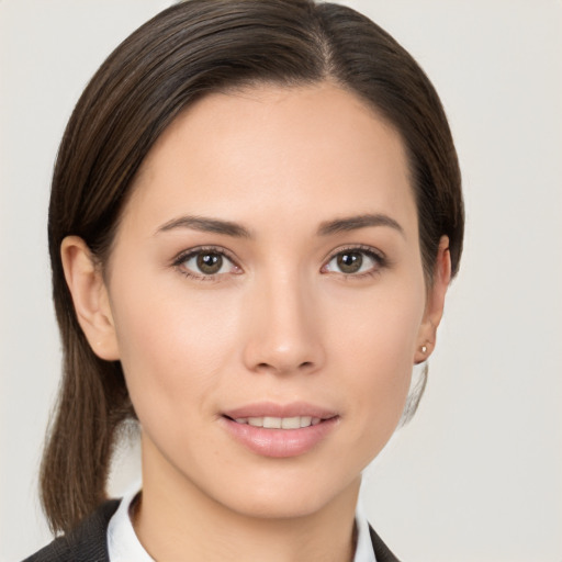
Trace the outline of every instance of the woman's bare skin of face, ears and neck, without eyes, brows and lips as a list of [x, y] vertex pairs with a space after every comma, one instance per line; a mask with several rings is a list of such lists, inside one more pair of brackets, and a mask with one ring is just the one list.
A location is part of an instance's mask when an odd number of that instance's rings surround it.
[[[319, 233], [366, 214], [398, 227]], [[249, 236], [170, 227], [188, 215]], [[427, 288], [402, 140], [334, 85], [211, 94], [172, 123], [104, 273], [80, 238], [61, 247], [79, 322], [100, 357], [122, 361], [140, 422], [134, 526], [155, 559], [352, 559], [361, 471], [435, 346], [447, 244]], [[226, 252], [217, 274], [178, 261], [201, 246]], [[342, 272], [342, 250], [362, 258], [360, 272]], [[305, 401], [337, 424], [304, 454], [263, 457], [222, 424], [261, 401]]]

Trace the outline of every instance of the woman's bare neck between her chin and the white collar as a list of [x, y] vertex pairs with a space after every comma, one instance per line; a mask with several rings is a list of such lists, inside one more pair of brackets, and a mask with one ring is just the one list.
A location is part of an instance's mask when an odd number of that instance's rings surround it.
[[[133, 525], [155, 560], [351, 562], [360, 479], [313, 513], [260, 517], [233, 510], [194, 483], [143, 463]], [[158, 477], [156, 477], [158, 476]]]

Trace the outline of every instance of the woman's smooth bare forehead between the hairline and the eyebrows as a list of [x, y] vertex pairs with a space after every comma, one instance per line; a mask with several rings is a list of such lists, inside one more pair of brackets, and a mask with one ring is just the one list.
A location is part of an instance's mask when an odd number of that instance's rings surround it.
[[173, 213], [267, 224], [366, 212], [416, 221], [400, 135], [330, 83], [202, 98], [157, 140], [134, 190], [125, 215], [140, 213], [145, 224]]

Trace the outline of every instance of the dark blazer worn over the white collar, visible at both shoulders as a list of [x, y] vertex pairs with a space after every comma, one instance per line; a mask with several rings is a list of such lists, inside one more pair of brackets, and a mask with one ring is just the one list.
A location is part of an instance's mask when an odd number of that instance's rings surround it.
[[[105, 502], [71, 533], [55, 539], [23, 562], [110, 562], [108, 525], [119, 503], [119, 499]], [[376, 562], [398, 562], [373, 529], [369, 530]]]

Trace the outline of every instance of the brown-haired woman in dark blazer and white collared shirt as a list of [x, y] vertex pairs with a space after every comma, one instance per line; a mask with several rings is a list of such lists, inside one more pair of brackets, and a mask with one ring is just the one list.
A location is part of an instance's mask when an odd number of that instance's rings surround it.
[[[29, 560], [395, 560], [361, 471], [415, 412], [462, 232], [439, 99], [364, 16], [191, 0], [142, 26], [54, 173], [65, 536]], [[106, 502], [127, 419], [143, 487]]]

